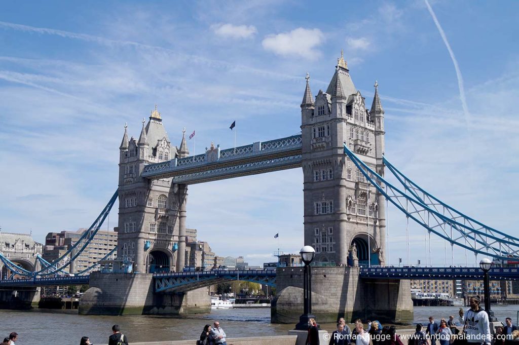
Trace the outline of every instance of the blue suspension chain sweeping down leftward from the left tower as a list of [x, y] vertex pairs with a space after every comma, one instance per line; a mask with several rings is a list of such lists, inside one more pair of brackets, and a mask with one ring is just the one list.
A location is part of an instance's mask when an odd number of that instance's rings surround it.
[[[37, 275], [43, 276], [43, 275], [50, 275], [50, 274], [56, 274], [58, 272], [62, 272], [66, 267], [70, 266], [70, 264], [76, 259], [83, 251], [86, 249], [87, 245], [92, 242], [93, 238], [95, 237], [95, 234], [99, 231], [101, 228], [101, 225], [103, 225], [104, 220], [110, 214], [110, 211], [112, 210], [112, 206], [114, 205], [115, 201], [117, 200], [118, 192], [115, 191], [114, 195], [108, 201], [106, 206], [104, 207], [103, 211], [99, 214], [99, 216], [94, 220], [92, 225], [83, 232], [81, 237], [77, 240], [74, 245], [70, 247], [69, 250], [67, 250], [61, 257], [58, 259], [52, 261], [52, 263], [48, 263], [49, 265], [38, 270], [38, 271], [28, 271], [25, 270], [19, 266], [17, 266], [15, 263], [10, 261], [7, 257], [5, 257], [3, 254], [0, 253], [0, 260], [4, 263], [7, 269], [9, 269], [12, 273], [22, 275], [25, 277], [36, 277]], [[43, 258], [42, 258], [43, 259]], [[40, 261], [41, 262], [41, 261]], [[47, 261], [46, 261], [47, 262]]]

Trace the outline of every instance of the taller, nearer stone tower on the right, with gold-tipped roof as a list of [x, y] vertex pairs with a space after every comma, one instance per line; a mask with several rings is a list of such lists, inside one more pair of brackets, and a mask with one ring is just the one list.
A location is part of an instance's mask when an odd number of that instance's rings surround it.
[[[326, 92], [315, 100], [307, 74], [301, 104], [305, 245], [337, 265], [385, 263], [385, 202], [344, 154], [343, 144], [383, 174], [384, 110], [375, 83], [371, 110], [341, 52]], [[355, 249], [354, 249], [355, 248]]]

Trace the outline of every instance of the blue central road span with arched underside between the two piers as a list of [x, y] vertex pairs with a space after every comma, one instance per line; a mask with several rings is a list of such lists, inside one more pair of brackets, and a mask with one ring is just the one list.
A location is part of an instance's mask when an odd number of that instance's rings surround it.
[[276, 270], [210, 270], [153, 274], [155, 292], [187, 292], [221, 282], [241, 280], [276, 286]]

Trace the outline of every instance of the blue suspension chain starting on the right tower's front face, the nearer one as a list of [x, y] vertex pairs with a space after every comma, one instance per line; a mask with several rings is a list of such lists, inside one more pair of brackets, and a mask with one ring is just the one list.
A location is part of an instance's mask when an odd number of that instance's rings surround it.
[[[387, 182], [387, 180], [378, 175], [353, 154], [346, 144], [344, 144], [344, 153], [357, 166], [367, 180], [377, 188], [380, 194], [384, 195], [384, 197], [402, 211], [406, 217], [413, 219], [416, 223], [429, 231], [429, 251], [431, 246], [430, 232], [433, 232], [436, 236], [441, 237], [449, 243], [468, 249], [475, 254], [483, 254], [502, 259], [509, 258], [509, 255], [519, 256], [519, 243], [515, 238], [509, 240], [508, 236], [502, 232], [497, 233], [503, 234], [507, 236], [507, 238], [504, 238], [504, 236], [498, 237], [494, 233], [483, 232], [480, 228], [474, 229], [471, 227], [472, 224], [481, 223], [473, 219], [468, 222], [468, 218], [465, 218], [462, 220], [463, 223], [460, 223], [459, 220], [461, 220], [461, 217], [442, 214], [435, 207], [430, 207], [433, 206], [432, 204], [429, 205], [418, 198], [413, 189], [409, 188], [411, 189], [408, 190], [411, 194], [411, 196], [409, 196]], [[392, 170], [390, 169], [390, 171]], [[381, 186], [385, 186], [385, 188]], [[436, 200], [435, 203], [440, 202], [438, 199], [434, 198], [434, 200]], [[441, 205], [443, 206], [444, 204], [442, 203]], [[445, 205], [445, 208], [447, 209], [447, 205]], [[469, 223], [469, 225], [465, 223]], [[453, 235], [451, 235], [447, 229], [447, 227], [450, 226], [453, 228]], [[467, 241], [464, 244], [462, 240]]]

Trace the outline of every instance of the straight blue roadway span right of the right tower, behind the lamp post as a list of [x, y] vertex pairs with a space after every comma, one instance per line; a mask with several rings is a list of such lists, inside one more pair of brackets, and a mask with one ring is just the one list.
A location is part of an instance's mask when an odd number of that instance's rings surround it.
[[[360, 277], [376, 279], [483, 279], [483, 271], [470, 267], [361, 267]], [[490, 280], [519, 280], [519, 268], [493, 268]]]

